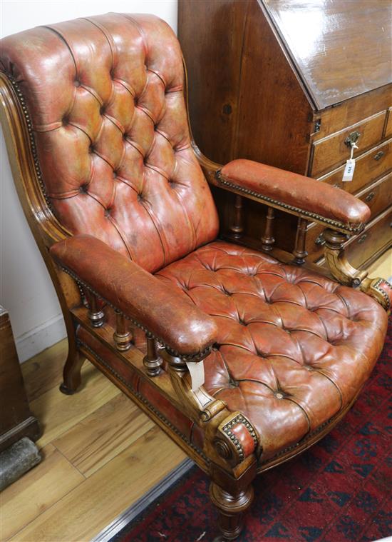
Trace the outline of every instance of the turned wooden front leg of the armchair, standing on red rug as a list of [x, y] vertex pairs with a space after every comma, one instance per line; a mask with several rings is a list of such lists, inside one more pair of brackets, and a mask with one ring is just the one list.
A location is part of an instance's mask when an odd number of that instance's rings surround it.
[[249, 485], [236, 495], [232, 495], [217, 483], [212, 482], [210, 496], [219, 512], [218, 524], [223, 538], [234, 540], [239, 536], [244, 526], [244, 511], [252, 504], [253, 487]]

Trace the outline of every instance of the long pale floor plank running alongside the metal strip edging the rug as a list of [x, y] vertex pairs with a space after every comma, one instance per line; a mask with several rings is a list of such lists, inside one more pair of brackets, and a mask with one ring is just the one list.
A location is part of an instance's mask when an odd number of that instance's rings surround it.
[[88, 542], [185, 454], [154, 426], [17, 533], [14, 542]]

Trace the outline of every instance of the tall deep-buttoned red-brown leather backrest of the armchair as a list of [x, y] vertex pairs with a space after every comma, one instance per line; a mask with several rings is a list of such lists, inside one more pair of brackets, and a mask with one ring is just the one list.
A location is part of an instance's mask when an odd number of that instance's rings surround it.
[[63, 226], [148, 271], [215, 239], [180, 45], [164, 21], [107, 14], [37, 27], [2, 41], [1, 64], [24, 95]]

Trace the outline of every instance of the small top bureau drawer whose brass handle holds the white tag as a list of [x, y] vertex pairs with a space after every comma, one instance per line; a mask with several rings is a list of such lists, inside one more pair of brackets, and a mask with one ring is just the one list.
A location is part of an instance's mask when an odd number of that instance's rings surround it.
[[350, 149], [345, 141], [352, 132], [357, 131], [361, 134], [357, 142], [359, 149], [356, 149], [354, 156], [358, 156], [369, 147], [378, 144], [383, 136], [385, 119], [386, 111], [381, 111], [381, 113], [353, 124], [349, 128], [315, 141], [312, 145], [311, 176], [319, 176], [337, 164], [342, 164], [350, 157]]

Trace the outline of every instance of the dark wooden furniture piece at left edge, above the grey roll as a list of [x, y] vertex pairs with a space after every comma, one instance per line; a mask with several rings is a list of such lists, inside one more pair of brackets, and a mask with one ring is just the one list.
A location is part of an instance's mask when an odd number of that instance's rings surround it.
[[9, 313], [0, 306], [0, 452], [24, 436], [36, 441], [41, 431], [32, 416], [16, 353]]

